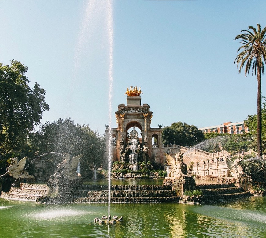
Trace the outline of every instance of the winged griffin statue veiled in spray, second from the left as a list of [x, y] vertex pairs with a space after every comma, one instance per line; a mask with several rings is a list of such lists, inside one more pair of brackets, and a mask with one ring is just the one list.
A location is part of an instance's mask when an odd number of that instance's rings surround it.
[[54, 174], [54, 178], [56, 177], [73, 178], [80, 176], [77, 174], [76, 170], [79, 164], [79, 160], [84, 154], [80, 154], [76, 157], [73, 157], [71, 160], [69, 153], [63, 153], [63, 155], [64, 155], [64, 160], [57, 165], [57, 171]]

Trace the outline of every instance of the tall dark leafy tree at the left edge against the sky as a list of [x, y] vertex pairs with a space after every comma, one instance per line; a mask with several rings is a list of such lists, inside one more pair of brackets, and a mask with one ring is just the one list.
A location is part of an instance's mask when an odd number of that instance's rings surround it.
[[0, 63], [0, 154], [27, 149], [27, 138], [40, 123], [42, 112], [49, 110], [46, 92], [26, 77], [28, 68], [16, 60]]

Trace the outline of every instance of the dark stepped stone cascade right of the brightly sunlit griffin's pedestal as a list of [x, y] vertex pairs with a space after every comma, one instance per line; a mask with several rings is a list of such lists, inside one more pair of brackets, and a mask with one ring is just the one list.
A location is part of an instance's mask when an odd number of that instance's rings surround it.
[[201, 189], [203, 191], [206, 202], [250, 196], [249, 191], [245, 191], [242, 187], [235, 186], [234, 183], [201, 184], [196, 185], [195, 189]]

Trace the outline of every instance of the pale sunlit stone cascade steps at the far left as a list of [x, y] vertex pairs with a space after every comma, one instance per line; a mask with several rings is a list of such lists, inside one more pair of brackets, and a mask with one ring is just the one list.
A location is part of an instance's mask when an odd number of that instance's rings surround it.
[[36, 201], [38, 197], [48, 194], [48, 186], [45, 184], [20, 183], [20, 187], [11, 187], [9, 192], [2, 191], [2, 198]]

